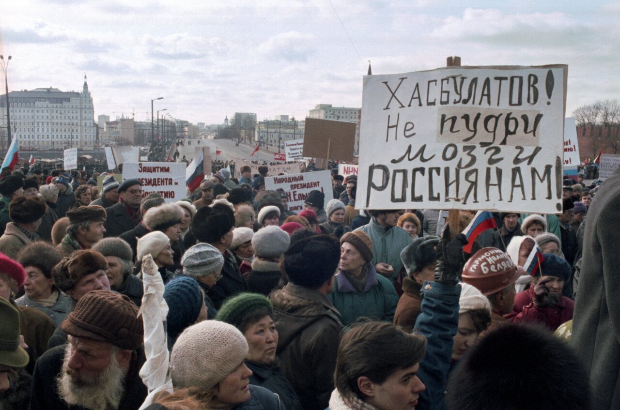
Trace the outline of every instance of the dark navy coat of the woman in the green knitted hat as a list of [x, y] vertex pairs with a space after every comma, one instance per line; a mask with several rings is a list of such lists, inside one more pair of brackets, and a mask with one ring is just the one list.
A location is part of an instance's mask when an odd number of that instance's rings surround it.
[[282, 373], [282, 369], [278, 365], [278, 359], [271, 366], [265, 366], [255, 362], [246, 360], [246, 366], [252, 370], [250, 376], [250, 385], [260, 386], [280, 396], [282, 403], [285, 404], [287, 410], [301, 410], [301, 401], [291, 382]]

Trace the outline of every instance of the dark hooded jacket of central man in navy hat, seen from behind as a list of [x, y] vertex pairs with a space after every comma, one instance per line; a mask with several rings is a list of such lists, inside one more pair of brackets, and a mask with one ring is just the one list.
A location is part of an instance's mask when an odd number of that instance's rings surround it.
[[339, 312], [317, 290], [287, 284], [270, 295], [280, 366], [304, 410], [323, 410], [334, 390]]

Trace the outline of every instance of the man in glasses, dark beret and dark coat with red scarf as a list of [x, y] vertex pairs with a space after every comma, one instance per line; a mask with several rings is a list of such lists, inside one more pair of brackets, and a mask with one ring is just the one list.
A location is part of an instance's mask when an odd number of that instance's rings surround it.
[[118, 194], [120, 194], [118, 203], [105, 209], [108, 214], [108, 219], [105, 221], [105, 237], [118, 237], [123, 232], [134, 229], [142, 220], [141, 181], [136, 179], [123, 181], [118, 186]]

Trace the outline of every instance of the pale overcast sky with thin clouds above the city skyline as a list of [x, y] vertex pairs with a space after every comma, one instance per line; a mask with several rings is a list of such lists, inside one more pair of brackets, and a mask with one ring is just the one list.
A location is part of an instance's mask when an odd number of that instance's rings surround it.
[[156, 97], [193, 123], [301, 119], [319, 103], [360, 107], [368, 60], [394, 74], [449, 55], [569, 64], [569, 116], [619, 98], [619, 20], [617, 1], [19, 0], [2, 2], [0, 48], [9, 90], [79, 91], [86, 73], [95, 120], [146, 120]]

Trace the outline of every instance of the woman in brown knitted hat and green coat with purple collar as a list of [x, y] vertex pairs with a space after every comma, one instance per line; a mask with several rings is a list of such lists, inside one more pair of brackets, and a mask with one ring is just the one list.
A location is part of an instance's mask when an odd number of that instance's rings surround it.
[[342, 325], [360, 317], [391, 322], [398, 303], [392, 283], [377, 273], [373, 264], [373, 241], [361, 230], [340, 238], [340, 271], [327, 296], [342, 316]]

